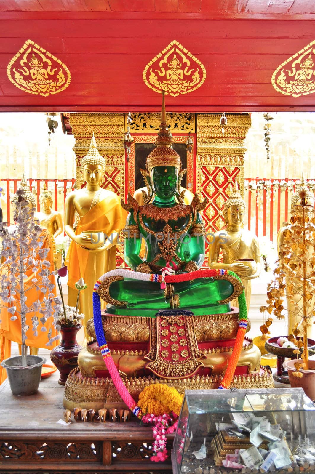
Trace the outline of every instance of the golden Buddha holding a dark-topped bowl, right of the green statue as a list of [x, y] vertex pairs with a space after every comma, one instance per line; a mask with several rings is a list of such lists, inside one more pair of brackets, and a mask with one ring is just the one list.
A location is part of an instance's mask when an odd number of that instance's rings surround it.
[[[242, 228], [245, 209], [245, 201], [235, 182], [230, 198], [224, 203], [226, 227], [215, 232], [213, 242], [209, 245], [209, 267], [232, 270], [241, 277], [249, 311], [251, 280], [259, 276], [261, 264], [258, 238]], [[223, 255], [222, 263], [218, 263], [220, 251]], [[238, 301], [234, 300], [231, 304], [238, 306]]]

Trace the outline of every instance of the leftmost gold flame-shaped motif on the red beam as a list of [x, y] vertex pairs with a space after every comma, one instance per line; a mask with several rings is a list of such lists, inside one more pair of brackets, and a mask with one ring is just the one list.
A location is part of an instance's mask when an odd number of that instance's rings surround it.
[[30, 39], [9, 62], [7, 74], [22, 91], [44, 97], [64, 91], [71, 81], [67, 66]]

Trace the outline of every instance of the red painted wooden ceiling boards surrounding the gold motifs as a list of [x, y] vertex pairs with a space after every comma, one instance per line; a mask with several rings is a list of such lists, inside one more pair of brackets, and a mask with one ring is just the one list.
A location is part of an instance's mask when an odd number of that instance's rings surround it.
[[[315, 93], [293, 98], [271, 85], [278, 65], [315, 40], [314, 0], [0, 0], [0, 38], [2, 111], [158, 110], [142, 72], [174, 39], [207, 77], [168, 95], [168, 110], [315, 110]], [[67, 89], [42, 97], [9, 81], [28, 39], [68, 67]]]

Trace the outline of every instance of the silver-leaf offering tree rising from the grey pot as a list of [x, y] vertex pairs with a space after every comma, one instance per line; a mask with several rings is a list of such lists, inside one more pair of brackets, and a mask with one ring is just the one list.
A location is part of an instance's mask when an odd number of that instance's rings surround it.
[[[48, 318], [54, 318], [56, 330], [60, 299], [55, 297], [55, 285], [49, 279], [53, 273], [51, 263], [46, 260], [49, 248], [42, 248], [45, 236], [41, 236], [43, 229], [34, 220], [34, 208], [30, 208], [24, 200], [24, 191], [17, 191], [19, 202], [15, 202], [15, 225], [10, 228], [6, 223], [0, 224], [0, 313], [6, 310], [11, 314], [12, 321], [20, 319], [22, 336], [22, 366], [27, 365], [26, 340], [29, 325], [27, 315], [32, 313], [32, 330], [34, 336], [38, 331], [47, 331], [45, 323]], [[25, 283], [29, 275], [33, 278]], [[43, 298], [36, 301], [28, 300], [28, 292], [36, 290]], [[37, 315], [41, 316], [37, 316]], [[39, 329], [40, 328], [40, 329]], [[52, 337], [52, 328], [47, 333], [47, 346], [59, 339]]]

